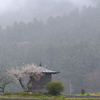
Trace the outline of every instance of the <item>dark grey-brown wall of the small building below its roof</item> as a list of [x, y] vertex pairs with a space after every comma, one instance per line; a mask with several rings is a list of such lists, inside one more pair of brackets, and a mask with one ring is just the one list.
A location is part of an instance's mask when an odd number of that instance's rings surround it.
[[32, 91], [34, 92], [46, 92], [46, 84], [52, 80], [51, 74], [44, 74], [39, 81], [32, 81]]

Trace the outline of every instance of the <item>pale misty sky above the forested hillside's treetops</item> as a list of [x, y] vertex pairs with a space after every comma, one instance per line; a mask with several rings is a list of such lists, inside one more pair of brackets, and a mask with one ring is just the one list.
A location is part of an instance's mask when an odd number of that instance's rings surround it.
[[100, 0], [0, 0], [0, 19], [5, 17], [5, 22], [7, 22], [10, 17], [12, 17], [12, 20], [32, 20], [34, 17], [43, 19], [50, 15], [57, 16], [68, 13], [75, 7], [81, 9], [84, 5], [96, 6], [99, 1]]

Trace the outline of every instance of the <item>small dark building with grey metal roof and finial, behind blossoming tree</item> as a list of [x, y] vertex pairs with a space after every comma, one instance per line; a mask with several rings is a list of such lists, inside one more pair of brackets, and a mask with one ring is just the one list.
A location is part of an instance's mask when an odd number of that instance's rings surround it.
[[[40, 66], [42, 67], [41, 63]], [[31, 82], [31, 91], [34, 92], [46, 92], [46, 84], [50, 81], [52, 81], [52, 74], [58, 74], [60, 72], [47, 69], [43, 67], [42, 73], [44, 74], [39, 81], [36, 81], [32, 78]]]

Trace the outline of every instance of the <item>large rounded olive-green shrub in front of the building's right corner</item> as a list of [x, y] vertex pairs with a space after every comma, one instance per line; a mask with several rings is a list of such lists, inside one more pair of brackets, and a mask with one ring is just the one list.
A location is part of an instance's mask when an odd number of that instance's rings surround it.
[[64, 90], [64, 86], [60, 81], [52, 81], [46, 85], [46, 90], [51, 95], [59, 95]]

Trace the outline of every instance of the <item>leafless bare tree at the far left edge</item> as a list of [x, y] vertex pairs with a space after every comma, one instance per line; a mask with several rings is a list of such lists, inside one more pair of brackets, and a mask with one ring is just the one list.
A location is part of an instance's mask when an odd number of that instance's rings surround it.
[[12, 82], [12, 79], [6, 74], [0, 72], [0, 89], [4, 93], [5, 87]]

